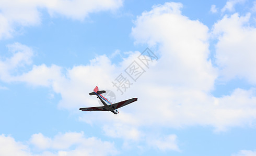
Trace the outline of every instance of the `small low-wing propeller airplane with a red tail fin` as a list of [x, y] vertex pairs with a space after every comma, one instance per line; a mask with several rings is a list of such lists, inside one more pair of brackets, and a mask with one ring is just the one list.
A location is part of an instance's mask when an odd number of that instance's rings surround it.
[[99, 90], [99, 88], [96, 86], [94, 88], [94, 92], [89, 93], [89, 95], [97, 95], [97, 98], [100, 99], [100, 101], [103, 103], [104, 106], [99, 107], [86, 107], [86, 108], [80, 108], [79, 110], [82, 111], [111, 111], [114, 114], [118, 114], [118, 108], [121, 108], [125, 105], [128, 105], [132, 102], [137, 101], [137, 98], [132, 98], [129, 100], [124, 100], [118, 103], [111, 103], [107, 98], [103, 97], [101, 94], [106, 93], [105, 90]]

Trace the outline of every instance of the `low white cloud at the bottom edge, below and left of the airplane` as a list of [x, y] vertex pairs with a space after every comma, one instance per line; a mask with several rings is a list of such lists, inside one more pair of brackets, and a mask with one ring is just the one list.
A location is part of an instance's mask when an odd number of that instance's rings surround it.
[[[57, 150], [57, 155], [115, 155], [118, 153], [114, 144], [98, 138], [86, 138], [83, 132], [68, 132], [48, 138], [42, 134], [34, 134], [30, 143], [38, 149]], [[71, 149], [72, 147], [72, 149]], [[100, 150], [98, 150], [100, 147]]]

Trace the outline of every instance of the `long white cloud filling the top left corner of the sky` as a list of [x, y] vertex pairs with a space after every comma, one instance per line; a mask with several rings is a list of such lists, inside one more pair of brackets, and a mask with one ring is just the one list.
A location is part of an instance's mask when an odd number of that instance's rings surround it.
[[98, 11], [115, 10], [122, 6], [122, 0], [104, 1], [7, 1], [0, 2], [0, 40], [11, 37], [17, 27], [38, 25], [41, 22], [40, 9], [48, 10], [53, 17], [64, 16], [84, 20], [88, 14]]

